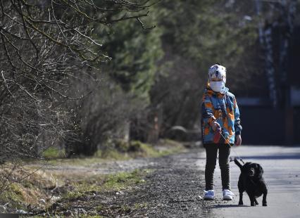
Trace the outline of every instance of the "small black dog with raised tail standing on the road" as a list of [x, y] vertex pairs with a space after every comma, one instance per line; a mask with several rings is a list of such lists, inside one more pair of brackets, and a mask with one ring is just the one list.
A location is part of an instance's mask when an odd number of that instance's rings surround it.
[[243, 192], [249, 195], [251, 206], [258, 205], [256, 198], [263, 194], [263, 206], [267, 205], [268, 188], [263, 180], [263, 167], [254, 162], [246, 162], [244, 165], [235, 159], [235, 164], [241, 169], [239, 175], [239, 205], [243, 205]]

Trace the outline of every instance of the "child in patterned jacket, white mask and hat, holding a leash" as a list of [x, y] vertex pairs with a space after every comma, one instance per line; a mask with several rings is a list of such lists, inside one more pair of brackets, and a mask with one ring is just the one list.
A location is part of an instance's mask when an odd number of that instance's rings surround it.
[[[230, 148], [241, 145], [242, 126], [235, 96], [225, 87], [226, 68], [220, 64], [208, 70], [208, 84], [202, 99], [202, 141], [206, 149], [204, 199], [213, 200], [213, 172], [219, 153], [219, 165], [223, 187], [223, 200], [232, 200], [230, 191]], [[223, 138], [224, 136], [224, 138]], [[230, 145], [228, 145], [230, 144]]]

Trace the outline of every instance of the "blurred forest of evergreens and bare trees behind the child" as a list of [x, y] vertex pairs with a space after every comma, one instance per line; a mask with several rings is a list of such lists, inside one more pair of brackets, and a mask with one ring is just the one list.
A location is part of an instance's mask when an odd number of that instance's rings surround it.
[[[286, 77], [277, 71], [299, 1], [7, 0], [0, 8], [0, 160], [15, 169], [49, 148], [72, 158], [173, 139], [179, 127], [200, 136], [215, 63], [237, 97], [280, 107]], [[270, 67], [278, 27], [287, 30]], [[11, 171], [1, 172], [7, 181]]]

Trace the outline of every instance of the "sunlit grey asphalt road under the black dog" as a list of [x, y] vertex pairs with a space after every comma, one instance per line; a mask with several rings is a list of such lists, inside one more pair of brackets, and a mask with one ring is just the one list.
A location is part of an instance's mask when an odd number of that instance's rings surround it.
[[[205, 166], [205, 153], [197, 162], [199, 167]], [[239, 146], [232, 148], [231, 155], [239, 155], [244, 162], [257, 162], [263, 169], [263, 177], [268, 184], [268, 207], [250, 206], [249, 197], [244, 193], [244, 205], [239, 206], [239, 191], [237, 181], [239, 167], [230, 163], [232, 201], [220, 201], [222, 198], [220, 168], [215, 168], [216, 200], [212, 201], [210, 217], [300, 217], [300, 147], [284, 146]], [[203, 157], [204, 156], [204, 157]], [[218, 164], [217, 164], [218, 165]], [[221, 203], [220, 203], [221, 202]]]

